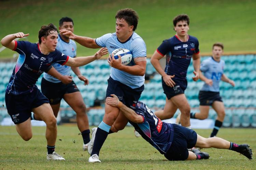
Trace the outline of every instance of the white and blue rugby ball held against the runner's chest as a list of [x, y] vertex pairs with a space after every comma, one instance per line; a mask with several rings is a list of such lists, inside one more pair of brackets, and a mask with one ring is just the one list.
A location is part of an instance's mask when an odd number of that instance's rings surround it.
[[112, 54], [114, 54], [115, 59], [118, 59], [118, 55], [120, 55], [123, 65], [129, 64], [132, 60], [132, 53], [130, 52], [130, 50], [127, 50], [127, 49], [124, 49], [124, 48], [115, 49], [111, 53], [111, 56], [112, 56]]

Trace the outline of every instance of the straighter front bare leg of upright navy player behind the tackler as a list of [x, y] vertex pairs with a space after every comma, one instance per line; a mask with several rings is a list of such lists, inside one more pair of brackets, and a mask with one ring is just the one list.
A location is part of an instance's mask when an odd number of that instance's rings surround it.
[[175, 104], [181, 111], [180, 122], [184, 127], [190, 126], [190, 106], [187, 98], [184, 94], [179, 94], [171, 98], [173, 104]]

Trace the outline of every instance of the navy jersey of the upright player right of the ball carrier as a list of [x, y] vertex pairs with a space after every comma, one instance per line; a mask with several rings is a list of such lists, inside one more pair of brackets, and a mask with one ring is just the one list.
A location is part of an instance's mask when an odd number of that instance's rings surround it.
[[166, 55], [166, 74], [174, 74], [173, 79], [176, 80], [186, 80], [191, 57], [193, 54], [199, 54], [199, 42], [196, 37], [190, 35], [187, 35], [186, 42], [182, 42], [175, 35], [164, 40], [157, 52], [162, 56]]

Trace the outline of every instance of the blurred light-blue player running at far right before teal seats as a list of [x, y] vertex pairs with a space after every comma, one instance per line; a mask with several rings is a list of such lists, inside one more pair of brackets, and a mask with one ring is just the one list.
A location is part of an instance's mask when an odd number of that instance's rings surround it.
[[[210, 106], [212, 106], [218, 116], [210, 137], [216, 136], [225, 118], [224, 103], [221, 96], [219, 96], [219, 82], [222, 80], [235, 86], [234, 81], [230, 80], [224, 74], [225, 62], [221, 60], [223, 48], [223, 44], [215, 43], [212, 47], [212, 57], [209, 57], [202, 62], [199, 78], [205, 83], [199, 91], [198, 96], [200, 101], [200, 112], [190, 113], [190, 118], [200, 120], [207, 119]], [[179, 121], [179, 117], [177, 117], [177, 119], [176, 122]]]

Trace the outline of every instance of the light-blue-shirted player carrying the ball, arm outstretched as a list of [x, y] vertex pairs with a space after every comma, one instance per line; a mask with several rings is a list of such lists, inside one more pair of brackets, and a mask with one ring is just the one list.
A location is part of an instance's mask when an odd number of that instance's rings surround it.
[[[60, 30], [60, 33], [68, 35], [70, 39], [74, 39], [77, 43], [88, 48], [106, 47], [110, 53], [115, 49], [125, 48], [132, 52], [132, 61], [126, 66], [121, 64], [120, 56], [117, 60], [114, 57], [112, 59], [111, 56], [108, 58], [109, 65], [112, 68], [108, 79], [106, 97], [116, 94], [126, 106], [133, 107], [133, 102], [139, 100], [141, 92], [144, 90], [146, 45], [143, 39], [134, 32], [139, 20], [136, 11], [130, 8], [122, 9], [117, 12], [115, 18], [116, 32], [105, 34], [96, 39], [77, 36], [67, 30]], [[110, 128], [115, 120], [117, 120], [116, 128], [118, 130], [124, 129], [128, 122], [128, 119], [117, 107], [105, 104], [103, 121], [98, 126], [95, 140], [91, 139], [88, 145], [88, 152], [91, 154], [89, 162], [98, 160], [100, 149], [108, 134], [112, 133]]]

